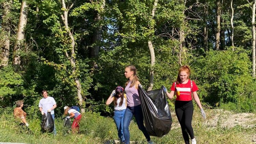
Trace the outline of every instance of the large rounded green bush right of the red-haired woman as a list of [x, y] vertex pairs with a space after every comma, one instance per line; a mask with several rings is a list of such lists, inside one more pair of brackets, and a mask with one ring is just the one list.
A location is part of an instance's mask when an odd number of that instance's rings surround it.
[[231, 106], [233, 110], [252, 112], [256, 89], [250, 69], [245, 52], [209, 51], [194, 63], [191, 76], [199, 86], [199, 96], [210, 105], [234, 103], [240, 109]]

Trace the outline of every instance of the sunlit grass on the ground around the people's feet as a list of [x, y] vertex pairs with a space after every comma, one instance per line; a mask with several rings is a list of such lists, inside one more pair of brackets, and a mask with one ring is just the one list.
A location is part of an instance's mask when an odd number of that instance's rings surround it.
[[[205, 110], [208, 118], [211, 119], [214, 110]], [[0, 109], [0, 142], [17, 142], [17, 143], [31, 143], [31, 144], [101, 144], [106, 141], [117, 140], [117, 131], [114, 120], [110, 117], [102, 117], [97, 113], [87, 112], [83, 114], [80, 124], [80, 134], [71, 134], [63, 130], [62, 118], [56, 118], [55, 125], [57, 135], [53, 136], [51, 133], [40, 132], [41, 119], [27, 119], [29, 128], [33, 134], [21, 133], [17, 122], [13, 118], [12, 111]], [[172, 112], [174, 114], [174, 112]], [[177, 118], [172, 116], [173, 124], [177, 124]], [[195, 138], [198, 144], [250, 144], [253, 143], [250, 136], [255, 134], [256, 127], [243, 128], [236, 126], [233, 128], [207, 127], [204, 125], [205, 121], [200, 115], [198, 108], [195, 108], [193, 116], [193, 128]], [[131, 141], [135, 144], [146, 143], [143, 133], [138, 129], [136, 123], [132, 122], [130, 125]], [[175, 126], [171, 131], [161, 137], [152, 136], [152, 141], [156, 144], [184, 144], [181, 128]]]

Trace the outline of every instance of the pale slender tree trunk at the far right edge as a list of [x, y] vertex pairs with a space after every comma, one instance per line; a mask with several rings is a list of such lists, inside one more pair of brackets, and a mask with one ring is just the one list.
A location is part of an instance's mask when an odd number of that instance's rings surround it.
[[253, 5], [252, 5], [252, 63], [253, 63], [253, 77], [255, 78], [255, 5], [256, 5], [256, 0], [253, 0]]

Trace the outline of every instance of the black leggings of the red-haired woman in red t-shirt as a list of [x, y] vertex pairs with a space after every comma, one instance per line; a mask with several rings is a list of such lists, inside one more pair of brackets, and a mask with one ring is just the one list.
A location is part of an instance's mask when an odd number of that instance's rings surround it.
[[[189, 144], [189, 136], [194, 139], [194, 131], [191, 126], [191, 121], [193, 117], [193, 103], [191, 101], [175, 101], [175, 112], [176, 116], [181, 125], [183, 139], [185, 144]], [[189, 136], [188, 136], [189, 134]]]

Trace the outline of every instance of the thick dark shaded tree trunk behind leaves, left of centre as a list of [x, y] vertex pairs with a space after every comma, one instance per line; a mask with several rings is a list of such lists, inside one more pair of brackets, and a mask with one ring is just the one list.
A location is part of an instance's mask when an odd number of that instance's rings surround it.
[[[105, 7], [105, 0], [103, 0], [103, 4], [101, 5], [101, 9], [104, 9], [104, 7]], [[98, 12], [97, 16], [95, 17], [95, 22], [99, 23], [99, 21], [101, 21], [101, 14], [100, 14], [100, 12]], [[101, 40], [101, 30], [102, 30], [102, 25], [99, 24], [99, 26], [94, 31], [93, 43], [95, 44], [95, 46], [90, 48], [90, 57], [92, 57], [92, 58], [99, 56], [100, 46], [99, 46], [98, 43]]]

